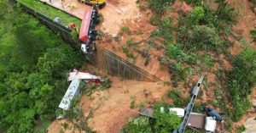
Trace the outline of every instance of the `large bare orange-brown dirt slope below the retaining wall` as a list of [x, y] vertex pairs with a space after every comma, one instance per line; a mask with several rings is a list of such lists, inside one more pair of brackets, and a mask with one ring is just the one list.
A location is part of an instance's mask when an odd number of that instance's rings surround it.
[[[168, 86], [163, 86], [162, 83], [154, 82], [139, 82], [132, 80], [119, 80], [112, 78], [113, 86], [108, 91], [99, 91], [93, 94], [93, 104], [91, 108], [97, 108], [94, 112], [94, 117], [89, 120], [89, 125], [96, 132], [115, 133], [125, 125], [127, 119], [137, 116], [138, 109], [131, 109], [131, 97], [138, 103], [153, 103], [159, 101], [160, 98], [168, 90]], [[83, 108], [83, 97], [81, 105]], [[90, 105], [91, 105], [90, 104]]]

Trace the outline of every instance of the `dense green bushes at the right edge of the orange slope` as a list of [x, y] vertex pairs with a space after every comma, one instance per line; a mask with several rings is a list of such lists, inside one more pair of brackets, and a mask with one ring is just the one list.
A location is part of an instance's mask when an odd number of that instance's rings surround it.
[[228, 76], [228, 90], [233, 104], [233, 119], [239, 120], [241, 115], [251, 107], [249, 98], [256, 82], [256, 52], [247, 48], [232, 61], [233, 69]]

